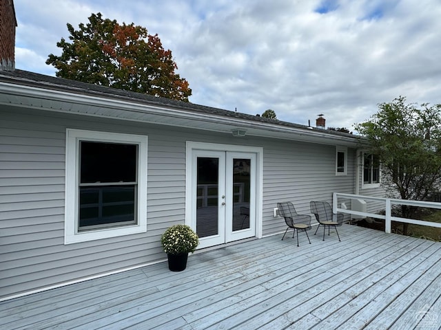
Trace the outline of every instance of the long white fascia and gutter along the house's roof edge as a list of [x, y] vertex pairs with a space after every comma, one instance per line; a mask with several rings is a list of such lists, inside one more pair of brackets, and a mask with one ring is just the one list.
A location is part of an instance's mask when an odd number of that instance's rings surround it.
[[[90, 115], [96, 117], [104, 117], [104, 118], [115, 118], [119, 120], [134, 120], [130, 116], [125, 116], [124, 113], [139, 113], [141, 118], [136, 119], [135, 121], [139, 122], [153, 122], [148, 118], [148, 115], [160, 115], [164, 118], [178, 118], [178, 119], [186, 119], [192, 120], [195, 125], [188, 126], [189, 128], [201, 129], [201, 127], [197, 124], [197, 122], [207, 122], [212, 124], [222, 124], [225, 125], [225, 131], [217, 129], [216, 131], [222, 133], [229, 133], [232, 127], [239, 126], [243, 129], [249, 129], [253, 132], [249, 132], [247, 134], [260, 136], [260, 137], [271, 137], [272, 135], [269, 133], [274, 133], [273, 137], [276, 138], [284, 138], [279, 137], [277, 134], [286, 135], [285, 139], [287, 140], [311, 140], [317, 143], [325, 143], [325, 144], [344, 144], [346, 146], [360, 146], [360, 139], [348, 138], [344, 136], [331, 135], [326, 133], [321, 133], [316, 129], [305, 129], [291, 127], [291, 126], [283, 126], [268, 122], [255, 122], [252, 120], [244, 120], [241, 118], [233, 118], [233, 117], [225, 117], [223, 115], [216, 115], [215, 113], [203, 113], [198, 112], [194, 113], [192, 111], [185, 111], [185, 109], [176, 109], [172, 105], [167, 106], [166, 104], [163, 106], [145, 104], [143, 100], [121, 100], [119, 98], [112, 97], [101, 97], [101, 96], [90, 96], [84, 93], [75, 92], [75, 91], [59, 91], [57, 89], [42, 88], [42, 87], [32, 87], [28, 85], [18, 85], [11, 83], [0, 82], [0, 94], [9, 94], [15, 96], [17, 100], [19, 98], [33, 98], [37, 100], [48, 100], [48, 101], [57, 101], [63, 103], [71, 103], [71, 104], [79, 104], [86, 105], [88, 107], [96, 107], [96, 109], [112, 109], [121, 111], [120, 115], [106, 115], [103, 113], [92, 113], [92, 111], [74, 111], [72, 107], [66, 107], [65, 109], [58, 109], [53, 107], [41, 107], [35, 106], [34, 109], [48, 110], [48, 111], [56, 111], [63, 113], [75, 113], [80, 115]], [[5, 102], [1, 100], [0, 104], [11, 104], [11, 105], [19, 105], [23, 107], [23, 104], [13, 102]], [[32, 106], [30, 106], [32, 107]], [[142, 118], [142, 115], [146, 115], [145, 118]], [[156, 122], [157, 124], [161, 124]], [[163, 123], [164, 124], [164, 123]], [[167, 124], [173, 126], [172, 123], [167, 122]], [[208, 129], [209, 130], [209, 129]], [[210, 130], [215, 131], [215, 130]], [[298, 137], [298, 138], [296, 138]]]

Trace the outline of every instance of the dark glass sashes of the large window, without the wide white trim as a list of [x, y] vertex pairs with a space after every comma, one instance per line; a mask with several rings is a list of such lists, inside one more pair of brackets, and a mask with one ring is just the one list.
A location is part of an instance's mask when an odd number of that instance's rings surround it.
[[138, 144], [79, 141], [79, 231], [136, 224]]

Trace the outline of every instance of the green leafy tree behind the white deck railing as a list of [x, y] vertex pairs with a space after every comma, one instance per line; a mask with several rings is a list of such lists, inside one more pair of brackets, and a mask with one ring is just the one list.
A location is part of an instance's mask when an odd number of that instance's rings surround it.
[[[389, 195], [424, 200], [439, 190], [441, 180], [441, 104], [405, 104], [400, 96], [378, 104], [378, 113], [356, 130], [380, 156], [382, 185]], [[395, 194], [393, 194], [395, 192]], [[402, 217], [416, 208], [402, 206]], [[407, 224], [403, 225], [407, 234]]]

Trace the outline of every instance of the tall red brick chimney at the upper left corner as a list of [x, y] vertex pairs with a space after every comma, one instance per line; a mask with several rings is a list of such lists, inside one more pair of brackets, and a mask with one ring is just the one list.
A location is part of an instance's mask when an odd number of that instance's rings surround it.
[[14, 0], [0, 0], [0, 70], [15, 69]]

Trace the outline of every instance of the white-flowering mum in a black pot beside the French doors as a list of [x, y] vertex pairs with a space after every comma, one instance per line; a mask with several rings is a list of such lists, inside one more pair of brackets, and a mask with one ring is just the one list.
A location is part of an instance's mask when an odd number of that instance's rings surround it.
[[188, 254], [196, 250], [199, 238], [189, 225], [172, 225], [161, 236], [161, 243], [167, 253], [169, 269], [181, 272], [187, 267]]

